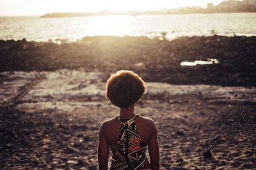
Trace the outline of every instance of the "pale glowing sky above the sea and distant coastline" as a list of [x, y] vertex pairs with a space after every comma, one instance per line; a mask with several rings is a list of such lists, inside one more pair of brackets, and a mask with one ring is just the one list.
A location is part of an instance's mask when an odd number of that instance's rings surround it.
[[40, 16], [52, 12], [147, 11], [220, 4], [224, 0], [0, 0], [0, 16]]

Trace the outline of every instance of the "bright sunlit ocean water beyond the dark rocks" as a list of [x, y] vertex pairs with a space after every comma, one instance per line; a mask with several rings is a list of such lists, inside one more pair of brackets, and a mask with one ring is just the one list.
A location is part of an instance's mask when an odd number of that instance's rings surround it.
[[76, 41], [85, 36], [256, 36], [256, 13], [109, 15], [93, 17], [0, 17], [0, 39]]

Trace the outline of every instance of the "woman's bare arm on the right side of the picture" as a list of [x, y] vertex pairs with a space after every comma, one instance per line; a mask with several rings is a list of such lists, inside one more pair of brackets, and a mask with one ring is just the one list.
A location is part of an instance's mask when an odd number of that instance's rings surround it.
[[153, 121], [152, 121], [151, 127], [152, 127], [152, 135], [148, 142], [150, 165], [154, 170], [159, 170], [159, 145], [158, 145], [158, 139], [157, 139], [157, 129]]

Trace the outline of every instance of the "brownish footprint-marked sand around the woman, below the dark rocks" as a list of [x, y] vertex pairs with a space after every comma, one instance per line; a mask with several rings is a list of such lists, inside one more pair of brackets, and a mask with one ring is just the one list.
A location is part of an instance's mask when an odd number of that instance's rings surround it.
[[[0, 78], [1, 169], [97, 169], [99, 126], [119, 113], [104, 97], [106, 73], [10, 71]], [[256, 168], [255, 87], [146, 87], [136, 113], [156, 122], [161, 169]]]

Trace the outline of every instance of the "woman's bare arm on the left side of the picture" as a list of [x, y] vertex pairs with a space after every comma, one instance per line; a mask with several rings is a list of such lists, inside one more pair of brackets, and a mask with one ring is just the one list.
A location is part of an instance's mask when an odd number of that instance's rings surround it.
[[98, 142], [98, 162], [99, 170], [108, 169], [108, 142], [106, 139], [106, 122], [100, 125], [99, 142]]

